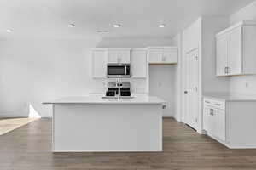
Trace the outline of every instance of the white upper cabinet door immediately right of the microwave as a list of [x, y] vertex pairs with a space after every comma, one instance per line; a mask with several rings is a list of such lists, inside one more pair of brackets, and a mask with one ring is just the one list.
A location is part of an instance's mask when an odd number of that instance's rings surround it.
[[131, 77], [134, 77], [134, 78], [147, 77], [147, 51], [146, 50], [131, 51]]

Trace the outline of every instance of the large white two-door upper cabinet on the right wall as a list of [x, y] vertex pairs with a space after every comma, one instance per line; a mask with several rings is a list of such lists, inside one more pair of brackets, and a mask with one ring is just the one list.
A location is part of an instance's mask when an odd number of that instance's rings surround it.
[[216, 75], [256, 74], [256, 22], [241, 21], [216, 35]]

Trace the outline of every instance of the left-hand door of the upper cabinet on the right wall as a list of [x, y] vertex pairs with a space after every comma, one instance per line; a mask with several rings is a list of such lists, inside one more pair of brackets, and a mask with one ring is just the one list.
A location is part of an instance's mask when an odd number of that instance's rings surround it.
[[216, 74], [217, 76], [225, 76], [227, 75], [228, 68], [228, 59], [229, 59], [229, 43], [230, 37], [228, 35], [224, 35], [221, 37], [217, 37], [216, 39]]

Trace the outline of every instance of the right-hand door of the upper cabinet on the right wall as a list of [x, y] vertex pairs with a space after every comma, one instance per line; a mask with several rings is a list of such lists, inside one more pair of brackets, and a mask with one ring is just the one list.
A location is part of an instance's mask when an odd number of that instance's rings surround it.
[[242, 28], [236, 28], [230, 32], [230, 66], [229, 75], [240, 75], [242, 73], [241, 44]]

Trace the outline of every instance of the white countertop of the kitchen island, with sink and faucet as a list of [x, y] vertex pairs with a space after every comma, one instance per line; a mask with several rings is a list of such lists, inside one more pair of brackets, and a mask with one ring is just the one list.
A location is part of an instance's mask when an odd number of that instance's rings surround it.
[[79, 97], [67, 97], [53, 101], [43, 102], [46, 104], [165, 104], [166, 101], [155, 96], [139, 95], [132, 99], [102, 99], [100, 95]]

